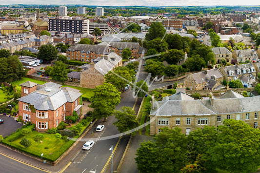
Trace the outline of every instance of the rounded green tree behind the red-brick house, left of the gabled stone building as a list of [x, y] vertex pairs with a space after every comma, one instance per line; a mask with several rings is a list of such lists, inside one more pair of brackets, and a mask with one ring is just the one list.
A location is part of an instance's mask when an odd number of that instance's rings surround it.
[[53, 80], [58, 80], [64, 83], [64, 81], [68, 78], [67, 65], [61, 61], [56, 61], [55, 65], [52, 68], [50, 76]]

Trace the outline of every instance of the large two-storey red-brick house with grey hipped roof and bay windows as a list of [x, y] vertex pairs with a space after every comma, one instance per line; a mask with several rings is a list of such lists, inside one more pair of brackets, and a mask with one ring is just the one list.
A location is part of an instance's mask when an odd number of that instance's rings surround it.
[[79, 90], [47, 82], [43, 85], [27, 81], [21, 86], [19, 115], [23, 121], [36, 124], [38, 132], [57, 127], [73, 111], [81, 115]]

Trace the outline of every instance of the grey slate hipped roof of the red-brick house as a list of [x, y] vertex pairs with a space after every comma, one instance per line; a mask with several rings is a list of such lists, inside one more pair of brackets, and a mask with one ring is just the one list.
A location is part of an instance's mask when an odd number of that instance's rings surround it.
[[18, 100], [33, 105], [35, 109], [40, 111], [55, 111], [66, 102], [74, 102], [82, 95], [66, 88], [59, 88], [59, 86], [59, 84], [47, 82], [37, 88], [36, 91], [20, 97]]

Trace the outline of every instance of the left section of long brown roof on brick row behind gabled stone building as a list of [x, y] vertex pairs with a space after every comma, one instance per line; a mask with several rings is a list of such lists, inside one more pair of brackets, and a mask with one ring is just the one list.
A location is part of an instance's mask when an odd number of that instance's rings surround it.
[[98, 52], [100, 54], [104, 54], [108, 52], [108, 46], [103, 45], [89, 45], [89, 44], [77, 44], [75, 46], [69, 47], [67, 50], [70, 51], [84, 51], [84, 52]]

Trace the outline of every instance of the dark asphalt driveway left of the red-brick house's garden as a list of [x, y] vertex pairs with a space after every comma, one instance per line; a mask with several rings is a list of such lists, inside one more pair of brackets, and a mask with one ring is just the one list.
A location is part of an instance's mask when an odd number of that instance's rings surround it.
[[3, 120], [3, 123], [0, 124], [0, 135], [3, 137], [11, 135], [17, 129], [22, 127], [22, 124], [16, 122], [13, 117], [0, 115], [0, 119]]

